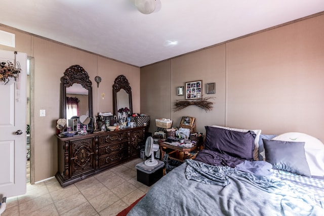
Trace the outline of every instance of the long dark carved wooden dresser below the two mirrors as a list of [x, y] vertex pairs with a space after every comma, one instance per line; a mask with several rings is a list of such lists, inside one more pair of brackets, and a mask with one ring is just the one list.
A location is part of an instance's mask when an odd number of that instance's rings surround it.
[[145, 126], [99, 132], [58, 140], [58, 172], [62, 187], [127, 162], [140, 155], [139, 142], [144, 141]]

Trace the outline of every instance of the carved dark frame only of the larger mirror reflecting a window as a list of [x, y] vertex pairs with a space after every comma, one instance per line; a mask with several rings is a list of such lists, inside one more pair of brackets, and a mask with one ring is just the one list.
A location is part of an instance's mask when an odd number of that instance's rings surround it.
[[89, 117], [92, 118], [92, 82], [87, 71], [79, 65], [70, 66], [65, 70], [64, 76], [61, 77], [63, 118], [66, 119], [66, 88], [71, 87], [74, 83], [79, 83], [88, 90]]

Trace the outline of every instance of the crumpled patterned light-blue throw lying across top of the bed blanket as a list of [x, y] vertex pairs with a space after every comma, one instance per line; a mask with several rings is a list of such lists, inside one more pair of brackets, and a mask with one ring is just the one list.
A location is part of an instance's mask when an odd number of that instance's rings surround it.
[[230, 177], [240, 181], [248, 181], [248, 183], [250, 182], [252, 186], [260, 190], [282, 195], [280, 205], [285, 215], [324, 215], [324, 209], [322, 208], [324, 206], [321, 206], [320, 200], [316, 200], [312, 193], [287, 181], [269, 179], [265, 176], [240, 171], [229, 166], [213, 166], [194, 160], [186, 160], [186, 162], [189, 164], [185, 171], [188, 180], [224, 187], [230, 184]]

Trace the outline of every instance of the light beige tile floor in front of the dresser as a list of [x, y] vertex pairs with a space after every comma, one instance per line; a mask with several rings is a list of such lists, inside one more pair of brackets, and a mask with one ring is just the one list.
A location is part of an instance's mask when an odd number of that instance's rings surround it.
[[138, 158], [62, 188], [51, 180], [27, 184], [27, 193], [7, 199], [6, 215], [116, 215], [147, 193], [137, 181]]

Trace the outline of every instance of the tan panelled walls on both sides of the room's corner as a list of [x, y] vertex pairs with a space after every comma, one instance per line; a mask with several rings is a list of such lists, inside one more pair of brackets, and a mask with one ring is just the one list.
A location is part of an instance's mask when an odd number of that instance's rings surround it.
[[[179, 125], [188, 115], [197, 118], [199, 132], [205, 132], [205, 125], [220, 124], [261, 128], [267, 134], [297, 131], [324, 141], [322, 23], [324, 15], [141, 69], [0, 26], [16, 34], [16, 48], [0, 46], [1, 50], [34, 58], [34, 181], [57, 171], [54, 134], [61, 117], [60, 77], [73, 64], [84, 67], [93, 81], [94, 114], [112, 111], [111, 86], [124, 74], [132, 87], [134, 112], [151, 115], [150, 132], [155, 131], [155, 118], [172, 118]], [[99, 89], [97, 75], [102, 77]], [[176, 87], [195, 80], [203, 81], [203, 97], [215, 97], [213, 111], [190, 106], [174, 112], [174, 102], [184, 99], [176, 96]], [[216, 94], [206, 95], [208, 82], [216, 82]], [[40, 109], [46, 110], [46, 117], [39, 117]]]

